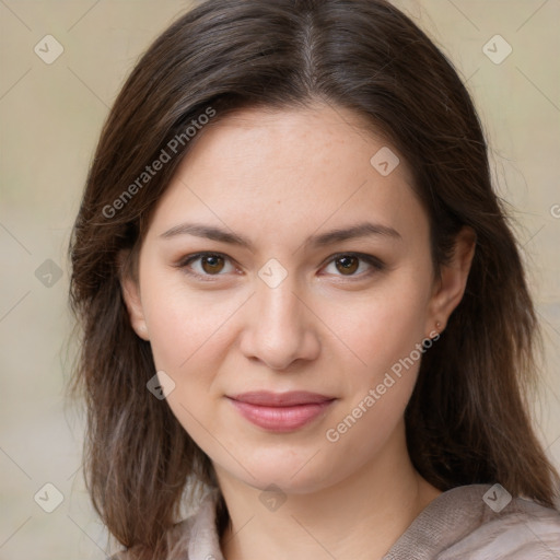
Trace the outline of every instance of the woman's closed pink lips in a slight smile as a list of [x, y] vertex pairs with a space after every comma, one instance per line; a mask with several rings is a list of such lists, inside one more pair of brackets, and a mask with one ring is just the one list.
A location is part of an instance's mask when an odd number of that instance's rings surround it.
[[249, 422], [272, 432], [298, 430], [317, 418], [335, 399], [307, 392], [253, 392], [228, 397]]

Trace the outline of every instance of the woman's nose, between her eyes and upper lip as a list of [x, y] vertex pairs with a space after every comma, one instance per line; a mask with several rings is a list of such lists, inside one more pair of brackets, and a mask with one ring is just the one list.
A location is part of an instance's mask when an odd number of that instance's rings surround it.
[[290, 275], [276, 288], [258, 280], [244, 312], [241, 350], [246, 358], [271, 370], [287, 371], [295, 362], [311, 361], [319, 354], [319, 319], [304, 296], [296, 293]]

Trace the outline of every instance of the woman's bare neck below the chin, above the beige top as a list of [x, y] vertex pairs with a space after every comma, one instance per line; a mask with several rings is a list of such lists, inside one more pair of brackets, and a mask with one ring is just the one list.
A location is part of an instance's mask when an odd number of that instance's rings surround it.
[[313, 492], [290, 493], [273, 511], [259, 500], [261, 490], [217, 474], [230, 514], [221, 537], [226, 560], [381, 559], [441, 493], [413, 469], [404, 429], [358, 472]]

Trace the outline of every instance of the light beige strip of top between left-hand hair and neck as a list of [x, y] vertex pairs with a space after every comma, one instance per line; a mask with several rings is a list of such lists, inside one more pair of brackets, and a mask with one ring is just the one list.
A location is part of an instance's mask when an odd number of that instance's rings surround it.
[[[210, 492], [198, 509], [186, 520], [170, 527], [165, 534], [167, 556], [161, 560], [189, 560], [195, 558], [222, 558], [215, 529], [217, 493]], [[138, 548], [117, 552], [109, 560], [136, 560]]]

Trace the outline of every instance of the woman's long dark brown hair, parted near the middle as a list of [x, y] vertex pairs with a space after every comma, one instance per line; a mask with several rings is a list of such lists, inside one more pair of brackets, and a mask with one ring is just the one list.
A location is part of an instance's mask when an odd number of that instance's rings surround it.
[[[86, 481], [103, 522], [126, 547], [162, 557], [186, 482], [215, 480], [165, 400], [147, 390], [155, 368], [150, 345], [130, 326], [119, 255], [138, 253], [191, 144], [185, 130], [192, 120], [210, 110], [215, 122], [242, 107], [317, 100], [353, 110], [406, 158], [430, 218], [435, 269], [462, 226], [477, 235], [463, 301], [424, 354], [406, 410], [413, 465], [441, 490], [498, 481], [553, 505], [558, 474], [526, 401], [536, 315], [492, 190], [483, 132], [453, 66], [384, 0], [209, 0], [167, 28], [124, 85], [70, 245], [71, 303], [83, 332], [75, 387], [84, 388], [89, 410]], [[171, 161], [145, 180], [147, 165], [162, 150], [171, 155], [177, 138]]]

